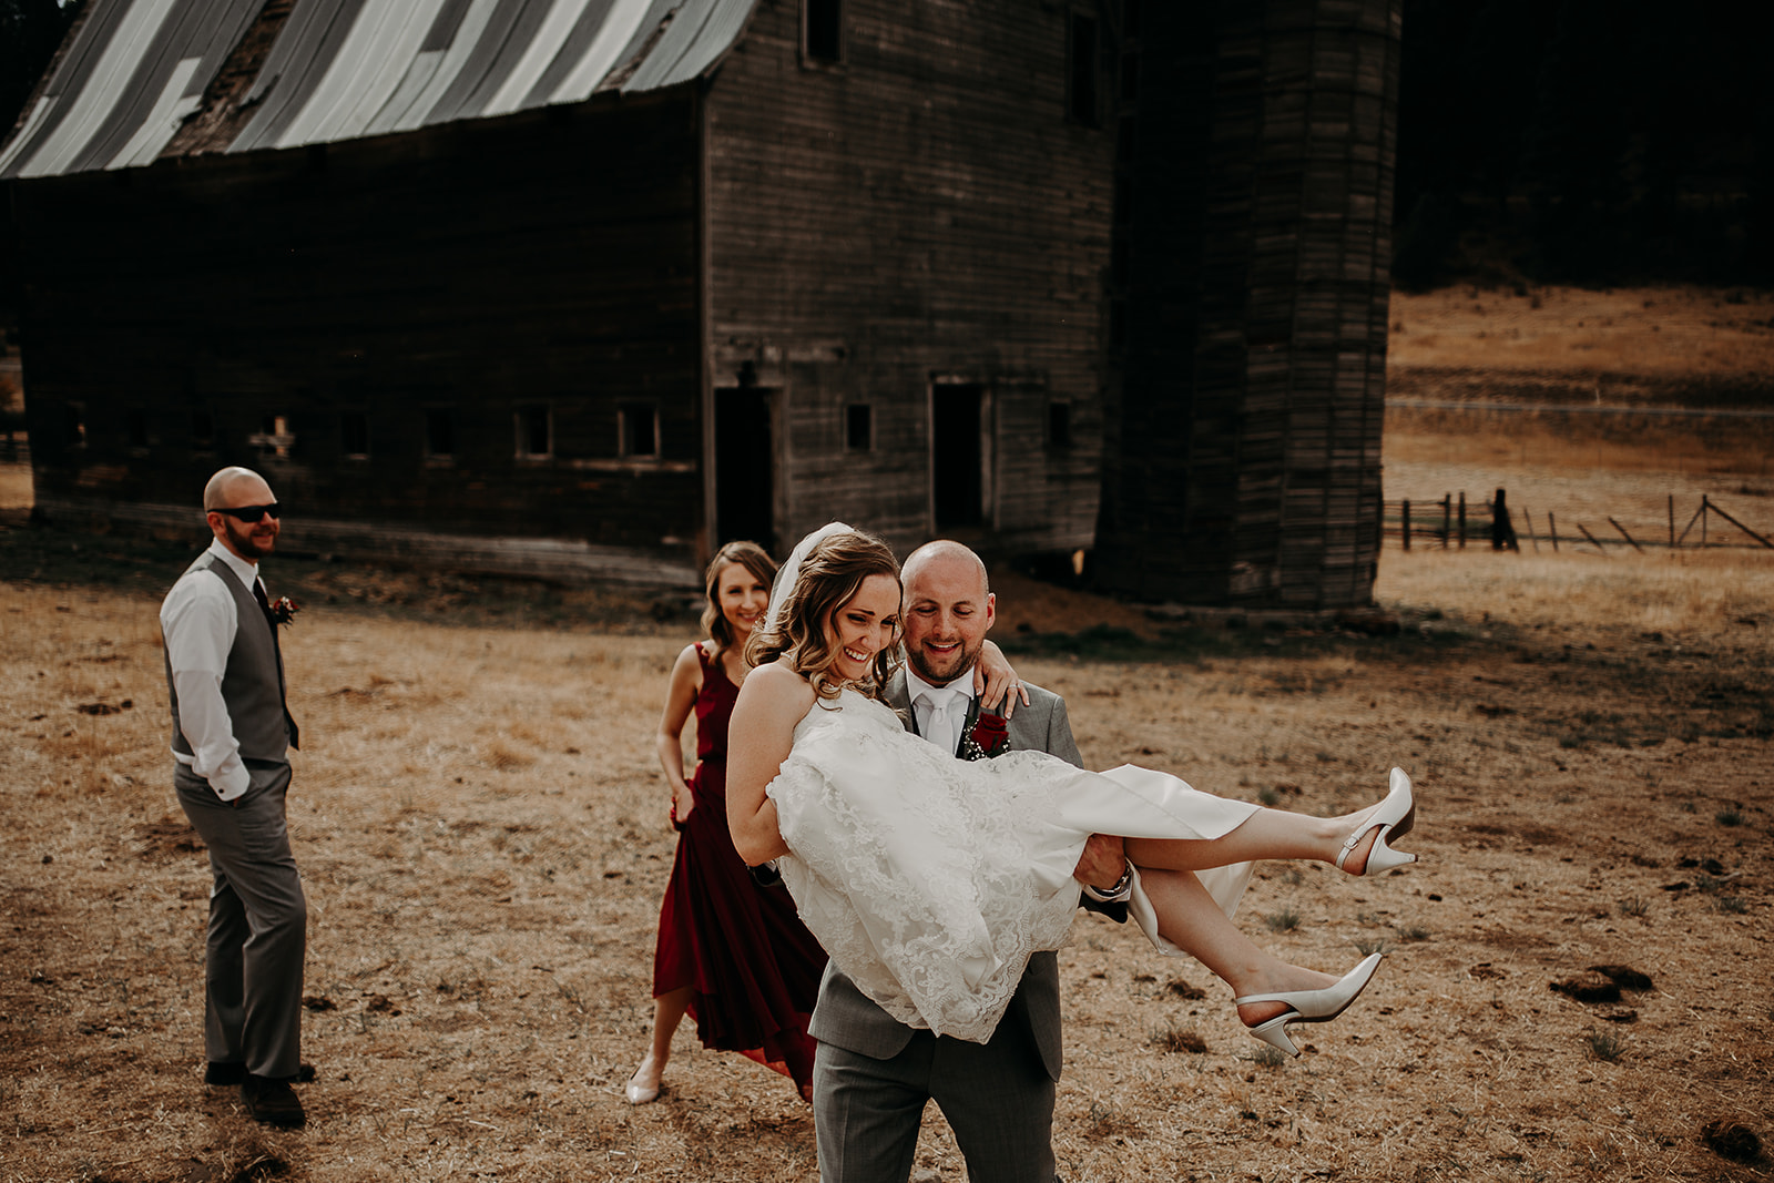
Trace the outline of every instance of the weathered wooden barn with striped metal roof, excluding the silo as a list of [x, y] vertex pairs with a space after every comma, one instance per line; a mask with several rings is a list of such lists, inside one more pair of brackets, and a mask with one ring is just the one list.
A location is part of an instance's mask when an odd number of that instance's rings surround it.
[[43, 516], [699, 582], [1087, 546], [1093, 5], [94, 0], [0, 154]]

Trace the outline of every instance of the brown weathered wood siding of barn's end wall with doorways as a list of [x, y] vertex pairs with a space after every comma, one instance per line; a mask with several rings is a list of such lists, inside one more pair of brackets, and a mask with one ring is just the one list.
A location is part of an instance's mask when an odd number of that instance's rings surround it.
[[[749, 365], [782, 388], [777, 541], [830, 518], [931, 537], [931, 390], [977, 383], [985, 518], [962, 534], [1087, 546], [1112, 137], [1068, 119], [1070, 11], [843, 9], [843, 62], [823, 66], [802, 59], [798, 0], [765, 0], [708, 98], [713, 381]], [[869, 450], [846, 450], [853, 403]]]

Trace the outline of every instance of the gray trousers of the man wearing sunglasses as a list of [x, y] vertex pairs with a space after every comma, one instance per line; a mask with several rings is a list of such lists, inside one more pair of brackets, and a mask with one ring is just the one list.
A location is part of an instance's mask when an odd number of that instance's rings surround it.
[[204, 958], [204, 1050], [211, 1062], [289, 1078], [302, 1066], [302, 968], [309, 901], [289, 851], [284, 796], [289, 764], [247, 761], [252, 787], [218, 800], [184, 764], [172, 775], [179, 807], [209, 848], [209, 947]]

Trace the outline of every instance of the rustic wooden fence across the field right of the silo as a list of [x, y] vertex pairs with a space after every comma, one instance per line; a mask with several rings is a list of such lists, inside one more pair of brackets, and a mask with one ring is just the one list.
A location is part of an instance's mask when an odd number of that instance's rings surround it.
[[[1728, 532], [1723, 527], [1714, 527], [1712, 518], [1719, 518], [1724, 523], [1737, 527], [1737, 532]], [[1676, 514], [1675, 495], [1669, 495], [1669, 516], [1668, 516], [1668, 536], [1662, 537], [1660, 530], [1655, 527], [1637, 527], [1637, 534], [1627, 529], [1613, 514], [1604, 514], [1607, 527], [1597, 527], [1602, 530], [1602, 537], [1590, 529], [1586, 521], [1579, 521], [1572, 516], [1565, 518], [1565, 534], [1559, 534], [1559, 520], [1556, 511], [1545, 511], [1540, 523], [1535, 521], [1535, 514], [1520, 505], [1510, 505], [1504, 490], [1497, 490], [1495, 497], [1483, 502], [1467, 504], [1465, 493], [1448, 493], [1439, 500], [1412, 500], [1403, 498], [1398, 502], [1382, 502], [1380, 521], [1382, 536], [1385, 539], [1398, 539], [1403, 550], [1412, 546], [1432, 546], [1432, 548], [1458, 548], [1465, 550], [1467, 543], [1478, 546], [1490, 546], [1492, 550], [1515, 550], [1522, 548], [1522, 536], [1526, 534], [1527, 544], [1540, 550], [1542, 543], [1549, 544], [1552, 552], [1559, 552], [1563, 546], [1582, 546], [1591, 544], [1598, 553], [1607, 553], [1607, 544], [1613, 546], [1630, 546], [1637, 553], [1646, 553], [1648, 548], [1668, 548], [1671, 552], [1689, 548], [1689, 546], [1765, 546], [1774, 550], [1774, 543], [1769, 541], [1767, 534], [1758, 532], [1735, 514], [1726, 511], [1710, 495], [1703, 493], [1699, 505], [1694, 513]], [[1685, 525], [1676, 529], [1676, 523], [1685, 518]], [[1575, 529], [1574, 529], [1575, 527]], [[1543, 530], [1543, 532], [1542, 532]], [[1653, 532], [1659, 534], [1653, 537]], [[1618, 534], [1620, 537], [1614, 537]]]

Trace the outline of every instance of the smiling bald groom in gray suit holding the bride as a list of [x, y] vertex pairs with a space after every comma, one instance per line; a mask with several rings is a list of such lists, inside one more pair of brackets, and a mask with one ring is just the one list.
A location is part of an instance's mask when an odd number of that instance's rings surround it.
[[[1011, 718], [986, 718], [972, 697], [972, 669], [997, 612], [986, 568], [960, 543], [912, 552], [905, 582], [905, 654], [882, 690], [907, 727], [967, 759], [1034, 750], [1084, 766], [1066, 701], [1025, 686]], [[1093, 835], [1073, 874], [1086, 896], [1125, 919], [1132, 867], [1121, 841]], [[1119, 876], [1119, 878], [1118, 878]], [[1054, 1174], [1054, 1085], [1059, 1080], [1059, 963], [1029, 958], [1022, 984], [990, 1043], [914, 1030], [871, 1002], [834, 965], [820, 983], [809, 1034], [812, 1128], [821, 1183], [905, 1183], [924, 1107], [935, 1100], [954, 1130], [972, 1183], [1048, 1183]]]

